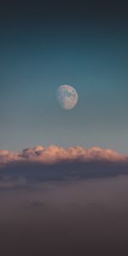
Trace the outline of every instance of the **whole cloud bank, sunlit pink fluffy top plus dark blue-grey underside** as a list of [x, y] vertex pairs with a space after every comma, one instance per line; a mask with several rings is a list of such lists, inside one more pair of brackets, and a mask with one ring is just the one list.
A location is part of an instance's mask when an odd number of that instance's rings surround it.
[[15, 188], [47, 181], [74, 181], [128, 174], [128, 156], [111, 149], [54, 145], [0, 152], [0, 182]]

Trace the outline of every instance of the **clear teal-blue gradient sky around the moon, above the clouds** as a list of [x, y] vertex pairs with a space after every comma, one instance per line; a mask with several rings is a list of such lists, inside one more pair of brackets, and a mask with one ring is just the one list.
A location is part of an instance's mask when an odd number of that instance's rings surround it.
[[[0, 149], [79, 144], [127, 153], [126, 6], [53, 2], [1, 3]], [[76, 108], [58, 105], [61, 84], [78, 91]]]

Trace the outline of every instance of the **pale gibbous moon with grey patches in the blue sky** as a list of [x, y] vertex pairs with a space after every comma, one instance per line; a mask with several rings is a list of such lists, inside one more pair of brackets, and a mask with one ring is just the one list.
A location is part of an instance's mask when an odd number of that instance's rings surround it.
[[61, 108], [72, 109], [79, 101], [79, 95], [73, 86], [69, 84], [62, 84], [57, 89], [57, 101], [61, 105]]

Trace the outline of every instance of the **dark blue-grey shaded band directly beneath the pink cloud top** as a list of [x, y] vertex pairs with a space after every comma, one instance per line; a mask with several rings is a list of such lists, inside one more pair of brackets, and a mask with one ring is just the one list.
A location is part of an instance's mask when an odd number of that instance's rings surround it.
[[0, 181], [14, 182], [15, 186], [46, 181], [70, 181], [97, 177], [116, 177], [128, 174], [127, 161], [61, 161], [55, 165], [37, 162], [11, 163], [0, 171]]

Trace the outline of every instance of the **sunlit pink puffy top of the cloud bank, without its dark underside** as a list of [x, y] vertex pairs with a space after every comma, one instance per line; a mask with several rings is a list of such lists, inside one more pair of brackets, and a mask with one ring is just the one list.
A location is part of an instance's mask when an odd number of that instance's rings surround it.
[[128, 161], [128, 156], [119, 154], [109, 148], [82, 148], [79, 146], [61, 148], [50, 145], [45, 148], [37, 146], [34, 148], [26, 148], [19, 152], [11, 152], [8, 150], [0, 150], [0, 166], [4, 166], [11, 162], [39, 162], [46, 165], [60, 163], [61, 161], [80, 162], [93, 160], [106, 161]]

